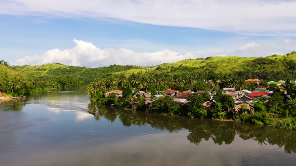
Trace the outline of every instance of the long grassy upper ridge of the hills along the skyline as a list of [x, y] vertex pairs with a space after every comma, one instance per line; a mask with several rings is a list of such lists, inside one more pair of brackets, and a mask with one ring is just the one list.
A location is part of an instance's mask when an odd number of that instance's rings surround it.
[[[186, 66], [191, 68], [202, 68], [205, 70], [213, 70], [215, 73], [232, 73], [234, 71], [258, 71], [272, 72], [283, 71], [286, 61], [296, 62], [296, 52], [284, 55], [270, 55], [267, 57], [239, 57], [239, 56], [211, 56], [199, 59], [187, 59], [174, 63], [164, 63], [154, 67], [143, 67], [135, 65], [110, 65], [107, 67], [87, 68], [78, 66], [68, 66], [59, 63], [44, 64], [35, 66], [15, 66], [14, 69], [27, 75], [67, 75], [74, 74], [76, 76], [84, 75], [83, 81], [88, 81], [93, 77], [100, 77], [108, 74], [124, 74], [130, 75], [136, 72], [164, 72], [170, 71], [172, 67]], [[161, 68], [161, 70], [160, 70]]]

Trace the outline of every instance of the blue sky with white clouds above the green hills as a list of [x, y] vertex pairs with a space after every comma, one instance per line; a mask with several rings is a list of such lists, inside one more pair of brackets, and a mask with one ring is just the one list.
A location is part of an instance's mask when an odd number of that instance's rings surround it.
[[151, 66], [296, 50], [296, 0], [0, 0], [0, 59]]

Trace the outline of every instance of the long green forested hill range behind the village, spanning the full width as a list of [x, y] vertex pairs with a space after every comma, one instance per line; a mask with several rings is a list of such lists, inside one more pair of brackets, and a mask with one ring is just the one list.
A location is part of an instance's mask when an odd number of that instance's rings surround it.
[[[3, 61], [2, 61], [3, 62]], [[110, 65], [107, 67], [88, 68], [69, 66], [60, 63], [35, 66], [9, 66], [0, 64], [0, 90], [2, 92], [21, 95], [33, 89], [46, 87], [67, 87], [86, 85], [94, 79], [111, 79], [119, 82], [119, 76], [147, 81], [148, 77], [168, 80], [211, 79], [220, 80], [225, 77], [240, 79], [259, 78], [263, 80], [279, 80], [288, 74], [296, 75], [296, 52], [267, 57], [207, 57], [187, 59], [175, 63], [164, 63], [157, 66]], [[137, 73], [137, 76], [135, 74]], [[139, 76], [140, 75], [140, 76]], [[194, 76], [193, 78], [191, 78]], [[144, 78], [142, 78], [144, 77]], [[168, 78], [170, 77], [170, 79]], [[188, 78], [190, 77], [190, 78]], [[131, 79], [131, 78], [130, 78]], [[25, 91], [25, 92], [24, 92]]]

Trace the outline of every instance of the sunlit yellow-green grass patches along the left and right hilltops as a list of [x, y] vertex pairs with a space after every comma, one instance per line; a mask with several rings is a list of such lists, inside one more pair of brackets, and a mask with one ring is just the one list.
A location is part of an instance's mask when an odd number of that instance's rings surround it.
[[[233, 71], [240, 71], [244, 69], [249, 69], [249, 70], [254, 70], [254, 69], [260, 69], [260, 68], [254, 68], [248, 66], [252, 62], [252, 60], [257, 59], [258, 57], [239, 57], [239, 56], [211, 56], [207, 58], [202, 58], [202, 59], [186, 59], [186, 60], [181, 60], [178, 62], [173, 62], [173, 63], [164, 63], [160, 64], [157, 66], [149, 67], [149, 66], [133, 66], [131, 68], [126, 68], [123, 70], [112, 70], [113, 74], [125, 74], [130, 75], [132, 73], [136, 72], [146, 72], [146, 71], [157, 71], [157, 67], [162, 67], [162, 71], [168, 71], [170, 68], [173, 67], [179, 67], [179, 66], [190, 66], [190, 67], [203, 67], [205, 69], [213, 69], [216, 73], [231, 73]], [[296, 52], [290, 52], [287, 54], [283, 55], [270, 55], [266, 56], [265, 58], [274, 60], [273, 64], [264, 64], [259, 67], [262, 67], [261, 70], [278, 70], [282, 71], [283, 66], [281, 64], [281, 60], [287, 59], [287, 60], [293, 60], [296, 61]], [[2, 66], [3, 67], [3, 66]], [[73, 67], [73, 66], [71, 66]], [[48, 71], [50, 69], [56, 69], [56, 68], [65, 68], [69, 69], [71, 68], [68, 65], [63, 65], [59, 63], [53, 63], [53, 64], [44, 64], [44, 65], [34, 65], [34, 66], [16, 66], [16, 69], [25, 73], [25, 74], [40, 74], [40, 75], [47, 75]], [[106, 67], [108, 68], [108, 67]], [[109, 67], [112, 69], [112, 66]], [[85, 70], [86, 68], [81, 67], [81, 70]], [[106, 70], [105, 70], [106, 71]], [[12, 71], [10, 70], [11, 73], [16, 73], [16, 74], [21, 74], [21, 72], [18, 71]]]

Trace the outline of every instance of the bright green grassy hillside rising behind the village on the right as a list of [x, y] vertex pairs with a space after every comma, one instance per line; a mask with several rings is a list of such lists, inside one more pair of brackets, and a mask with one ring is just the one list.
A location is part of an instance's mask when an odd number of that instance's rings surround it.
[[[216, 73], [231, 73], [233, 71], [242, 70], [283, 70], [283, 61], [296, 61], [296, 52], [287, 53], [284, 55], [270, 55], [267, 57], [239, 57], [239, 56], [211, 56], [199, 59], [186, 59], [174, 63], [164, 63], [155, 67], [142, 67], [137, 69], [130, 69], [119, 71], [115, 73], [124, 73], [130, 75], [136, 72], [146, 72], [155, 70], [161, 67], [163, 70], [170, 70], [172, 67], [188, 66], [196, 68], [204, 68], [214, 70]], [[258, 64], [256, 64], [258, 62]], [[260, 62], [262, 64], [260, 64]]]

